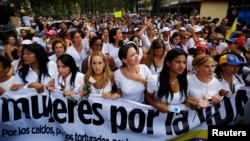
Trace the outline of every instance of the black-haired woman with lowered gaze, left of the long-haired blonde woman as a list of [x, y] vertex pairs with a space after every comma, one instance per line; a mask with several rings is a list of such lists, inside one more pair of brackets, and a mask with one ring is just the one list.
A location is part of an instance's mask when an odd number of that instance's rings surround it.
[[62, 54], [56, 61], [58, 72], [52, 80], [47, 84], [49, 91], [58, 89], [65, 96], [79, 95], [84, 85], [84, 74], [82, 74], [76, 66], [74, 58], [69, 54]]

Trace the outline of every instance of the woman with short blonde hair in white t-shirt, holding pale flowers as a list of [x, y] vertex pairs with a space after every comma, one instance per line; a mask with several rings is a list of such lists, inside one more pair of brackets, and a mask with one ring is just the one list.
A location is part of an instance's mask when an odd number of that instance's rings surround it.
[[201, 54], [194, 58], [194, 74], [187, 77], [188, 91], [186, 104], [190, 108], [208, 107], [221, 102], [222, 96], [219, 95], [222, 86], [214, 76], [216, 61], [209, 55]]

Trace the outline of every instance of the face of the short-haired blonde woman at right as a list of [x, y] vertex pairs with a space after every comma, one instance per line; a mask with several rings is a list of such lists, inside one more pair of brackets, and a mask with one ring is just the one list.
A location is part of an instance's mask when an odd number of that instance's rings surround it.
[[213, 78], [215, 68], [216, 68], [216, 65], [214, 62], [204, 63], [202, 65], [195, 67], [197, 73], [201, 74], [204, 78], [207, 78], [207, 79]]

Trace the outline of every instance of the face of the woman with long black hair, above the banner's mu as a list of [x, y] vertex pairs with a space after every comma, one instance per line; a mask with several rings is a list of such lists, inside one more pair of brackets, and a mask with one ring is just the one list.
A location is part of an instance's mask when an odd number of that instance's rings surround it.
[[23, 62], [25, 65], [32, 65], [37, 62], [36, 54], [28, 49], [23, 50]]

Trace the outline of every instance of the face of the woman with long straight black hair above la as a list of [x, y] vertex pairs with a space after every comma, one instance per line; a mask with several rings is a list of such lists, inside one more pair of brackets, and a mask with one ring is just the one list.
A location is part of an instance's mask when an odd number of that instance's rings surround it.
[[171, 62], [167, 62], [170, 72], [173, 74], [181, 75], [187, 66], [187, 60], [185, 55], [175, 57]]

